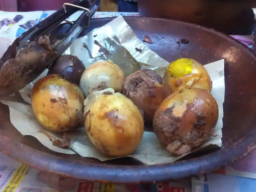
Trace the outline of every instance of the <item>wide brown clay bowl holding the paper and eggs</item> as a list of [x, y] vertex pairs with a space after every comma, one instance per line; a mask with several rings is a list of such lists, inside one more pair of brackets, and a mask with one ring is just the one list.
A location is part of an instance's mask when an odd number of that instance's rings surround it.
[[[90, 30], [113, 18], [92, 20]], [[195, 24], [156, 18], [125, 18], [139, 39], [167, 61], [190, 57], [202, 64], [225, 58], [225, 102], [222, 147], [175, 163], [146, 166], [131, 158], [100, 162], [48, 150], [35, 138], [22, 136], [0, 104], [0, 151], [34, 168], [91, 181], [154, 182], [203, 174], [242, 158], [256, 147], [256, 57], [240, 42]], [[186, 38], [188, 44], [176, 42]]]

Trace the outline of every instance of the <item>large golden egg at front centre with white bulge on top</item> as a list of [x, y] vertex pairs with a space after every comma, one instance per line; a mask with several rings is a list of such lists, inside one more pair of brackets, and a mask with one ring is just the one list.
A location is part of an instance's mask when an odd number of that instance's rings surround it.
[[[95, 99], [97, 93], [100, 94]], [[130, 99], [110, 88], [90, 94], [84, 104], [85, 129], [98, 150], [113, 157], [136, 150], [142, 140], [144, 121]]]

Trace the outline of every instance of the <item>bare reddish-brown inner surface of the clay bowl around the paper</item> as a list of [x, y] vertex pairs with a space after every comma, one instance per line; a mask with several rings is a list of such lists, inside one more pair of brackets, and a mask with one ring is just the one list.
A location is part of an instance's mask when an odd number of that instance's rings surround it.
[[[103, 26], [110, 22], [112, 18], [92, 20], [90, 27], [82, 32], [80, 36], [86, 35], [90, 30]], [[222, 148], [232, 148], [236, 142], [243, 140], [255, 129], [256, 125], [256, 58], [254, 54], [243, 46], [240, 42], [216, 32], [211, 29], [200, 27], [194, 24], [178, 22], [175, 20], [164, 20], [154, 18], [125, 18], [126, 22], [134, 30], [136, 36], [143, 40], [144, 35], [150, 36], [153, 44], [147, 44], [148, 47], [156, 52], [165, 60], [171, 62], [181, 57], [194, 58], [202, 64], [208, 64], [216, 60], [225, 59], [225, 102], [223, 118], [223, 137]], [[178, 44], [178, 40], [185, 38], [189, 40], [188, 44]], [[24, 148], [27, 146], [45, 152], [56, 158], [72, 160], [80, 164], [109, 164], [109, 165], [142, 165], [141, 162], [132, 158], [122, 158], [108, 162], [100, 162], [93, 158], [82, 158], [79, 155], [59, 154], [44, 147], [35, 138], [22, 136], [20, 132], [12, 126], [9, 118], [7, 106], [0, 104], [0, 132], [5, 138], [14, 139], [21, 143]], [[1, 148], [6, 152], [7, 148]], [[15, 151], [15, 149], [12, 150]], [[209, 152], [207, 152], [209, 153]], [[216, 150], [210, 151], [216, 153]], [[203, 155], [202, 153], [200, 155]], [[26, 153], [20, 157], [26, 160]], [[193, 161], [193, 156], [182, 163]], [[220, 160], [221, 161], [221, 160]], [[32, 166], [35, 166], [35, 162]], [[219, 165], [221, 166], [221, 164]], [[50, 170], [50, 168], [49, 168]]]

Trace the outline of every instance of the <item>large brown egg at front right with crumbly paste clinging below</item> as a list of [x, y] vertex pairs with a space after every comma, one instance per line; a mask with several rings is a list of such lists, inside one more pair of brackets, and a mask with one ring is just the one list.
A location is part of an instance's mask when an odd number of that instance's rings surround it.
[[217, 102], [207, 90], [184, 89], [160, 104], [154, 114], [154, 132], [170, 153], [179, 156], [209, 139], [218, 114]]

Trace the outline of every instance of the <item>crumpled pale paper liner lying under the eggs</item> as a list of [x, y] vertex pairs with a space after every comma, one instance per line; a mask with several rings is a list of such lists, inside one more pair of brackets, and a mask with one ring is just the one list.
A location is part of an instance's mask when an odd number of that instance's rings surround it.
[[[96, 44], [95, 40], [97, 41]], [[105, 50], [100, 48], [97, 44], [100, 44]], [[142, 51], [138, 52], [135, 48], [141, 49]], [[78, 56], [86, 68], [94, 62], [111, 59], [124, 70], [126, 76], [140, 68], [150, 68], [163, 75], [166, 66], [169, 64], [169, 62], [149, 50], [148, 46], [135, 36], [134, 32], [124, 21], [122, 16], [101, 28], [94, 29], [87, 36], [76, 39], [65, 54]], [[219, 118], [210, 140], [202, 144], [199, 149], [212, 145], [221, 146], [222, 144], [221, 129], [225, 93], [224, 60], [204, 65], [204, 67], [210, 74], [212, 80], [211, 93], [219, 106]], [[47, 71], [45, 71], [39, 78], [46, 74]], [[36, 82], [36, 80], [34, 82]], [[10, 120], [20, 133], [22, 135], [36, 137], [44, 146], [55, 152], [64, 154], [78, 153], [83, 157], [97, 158], [102, 161], [111, 159], [109, 156], [98, 152], [94, 148], [86, 135], [84, 127], [67, 132], [67, 135], [71, 139], [70, 149], [53, 146], [48, 138], [49, 134], [50, 136], [62, 140], [63, 133], [47, 131], [36, 120], [30, 100], [30, 93], [34, 82], [28, 84], [24, 89], [19, 91], [25, 102], [14, 101], [13, 98], [12, 100], [8, 100], [8, 98], [0, 100], [3, 104], [9, 106]], [[142, 141], [137, 150], [130, 156], [140, 160], [144, 164], [161, 164], [174, 162], [184, 155], [179, 157], [170, 155], [166, 150], [166, 146], [159, 143], [154, 133], [144, 132]]]

